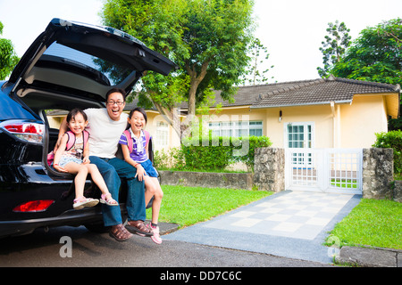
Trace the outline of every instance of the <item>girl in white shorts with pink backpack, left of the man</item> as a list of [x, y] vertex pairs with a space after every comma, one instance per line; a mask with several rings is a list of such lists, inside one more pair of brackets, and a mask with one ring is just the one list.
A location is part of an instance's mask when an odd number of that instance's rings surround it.
[[[72, 207], [74, 209], [93, 207], [99, 201], [109, 206], [118, 206], [119, 203], [112, 198], [96, 165], [90, 164], [88, 159], [89, 134], [85, 130], [88, 125], [87, 114], [83, 110], [73, 109], [67, 115], [67, 123], [70, 131], [63, 134], [62, 141], [57, 151], [54, 152], [53, 167], [59, 172], [76, 175], [74, 179], [75, 199]], [[84, 186], [88, 174], [102, 191], [100, 200], [84, 197]]]

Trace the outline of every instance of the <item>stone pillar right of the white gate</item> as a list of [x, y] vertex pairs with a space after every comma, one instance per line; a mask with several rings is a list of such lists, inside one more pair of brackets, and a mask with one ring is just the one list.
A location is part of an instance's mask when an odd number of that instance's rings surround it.
[[392, 199], [393, 175], [392, 149], [363, 149], [363, 198]]

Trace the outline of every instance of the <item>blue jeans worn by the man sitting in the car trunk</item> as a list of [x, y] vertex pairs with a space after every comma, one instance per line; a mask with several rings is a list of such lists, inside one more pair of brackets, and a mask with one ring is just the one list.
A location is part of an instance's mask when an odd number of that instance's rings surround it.
[[[89, 157], [91, 163], [95, 164], [99, 172], [104, 177], [107, 188], [112, 194], [113, 199], [119, 201], [119, 190], [121, 178], [127, 181], [127, 202], [126, 208], [129, 221], [145, 221], [145, 188], [144, 181], [138, 181], [135, 178], [137, 169], [130, 166], [121, 159], [102, 159], [95, 156]], [[121, 224], [121, 209], [116, 206], [107, 206], [102, 204], [105, 226]]]

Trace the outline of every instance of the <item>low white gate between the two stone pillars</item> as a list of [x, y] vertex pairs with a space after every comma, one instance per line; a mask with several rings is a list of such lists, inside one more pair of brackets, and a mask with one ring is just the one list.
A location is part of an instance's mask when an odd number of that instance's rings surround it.
[[285, 149], [289, 190], [362, 194], [362, 149]]

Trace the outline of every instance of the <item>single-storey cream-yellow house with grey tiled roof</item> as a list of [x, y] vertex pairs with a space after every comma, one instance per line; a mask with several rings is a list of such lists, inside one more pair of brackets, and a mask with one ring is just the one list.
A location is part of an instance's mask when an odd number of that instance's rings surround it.
[[[203, 121], [217, 135], [266, 135], [276, 148], [370, 148], [375, 133], [388, 131], [388, 119], [398, 118], [399, 97], [399, 85], [338, 77], [241, 86], [235, 102], [216, 92]], [[180, 145], [161, 114], [147, 115], [155, 150]], [[63, 116], [48, 114], [49, 122], [58, 127]]]

